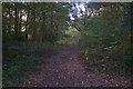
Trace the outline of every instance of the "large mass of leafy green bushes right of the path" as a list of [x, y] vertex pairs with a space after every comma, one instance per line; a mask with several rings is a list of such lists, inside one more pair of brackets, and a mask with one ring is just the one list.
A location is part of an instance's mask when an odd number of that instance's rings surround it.
[[125, 16], [127, 10], [120, 4], [113, 8], [109, 6], [100, 10], [99, 16], [80, 19], [83, 29], [79, 42], [81, 59], [90, 70], [120, 75], [131, 72], [130, 16]]

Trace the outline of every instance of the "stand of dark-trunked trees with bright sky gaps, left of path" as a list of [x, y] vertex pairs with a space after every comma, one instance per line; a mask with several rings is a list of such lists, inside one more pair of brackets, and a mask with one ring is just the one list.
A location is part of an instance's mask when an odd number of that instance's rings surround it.
[[3, 41], [55, 41], [64, 23], [66, 3], [3, 2]]

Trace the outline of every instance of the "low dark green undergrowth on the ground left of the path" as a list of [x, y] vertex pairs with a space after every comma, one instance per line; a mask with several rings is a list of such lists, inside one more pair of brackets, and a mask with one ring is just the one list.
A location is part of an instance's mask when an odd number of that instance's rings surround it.
[[50, 42], [10, 42], [3, 44], [3, 49], [2, 85], [12, 87], [22, 85], [27, 76], [35, 73], [38, 66], [58, 52], [61, 46]]

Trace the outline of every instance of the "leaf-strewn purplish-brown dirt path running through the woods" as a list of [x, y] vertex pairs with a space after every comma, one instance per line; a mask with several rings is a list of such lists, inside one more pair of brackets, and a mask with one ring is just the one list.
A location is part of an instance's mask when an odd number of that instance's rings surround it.
[[79, 51], [66, 47], [47, 63], [38, 75], [31, 76], [24, 86], [32, 87], [130, 87], [127, 79], [88, 71], [79, 60]]

